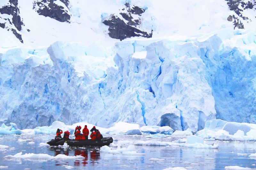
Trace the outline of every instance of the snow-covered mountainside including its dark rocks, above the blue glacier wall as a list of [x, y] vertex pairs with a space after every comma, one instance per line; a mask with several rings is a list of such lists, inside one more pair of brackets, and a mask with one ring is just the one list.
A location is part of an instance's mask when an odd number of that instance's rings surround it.
[[255, 8], [253, 0], [2, 0], [0, 45], [38, 47], [55, 41], [89, 45], [101, 41], [109, 46], [136, 36], [248, 29], [255, 26]]

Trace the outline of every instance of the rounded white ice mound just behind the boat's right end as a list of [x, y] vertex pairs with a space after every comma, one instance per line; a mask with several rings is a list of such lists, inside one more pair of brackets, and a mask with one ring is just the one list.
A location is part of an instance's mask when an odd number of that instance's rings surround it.
[[113, 127], [108, 128], [107, 134], [142, 135], [140, 125], [126, 122], [114, 123]]

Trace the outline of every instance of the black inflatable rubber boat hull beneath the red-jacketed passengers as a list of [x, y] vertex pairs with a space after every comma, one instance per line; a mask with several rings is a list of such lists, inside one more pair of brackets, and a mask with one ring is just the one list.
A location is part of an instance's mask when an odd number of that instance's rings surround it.
[[68, 140], [63, 140], [63, 139], [52, 139], [51, 141], [47, 142], [47, 144], [51, 146], [58, 146], [58, 145], [63, 145], [64, 143], [67, 143], [69, 146], [104, 146], [104, 145], [109, 145], [113, 142], [112, 137], [103, 137], [100, 140], [75, 140], [75, 139], [68, 139]]

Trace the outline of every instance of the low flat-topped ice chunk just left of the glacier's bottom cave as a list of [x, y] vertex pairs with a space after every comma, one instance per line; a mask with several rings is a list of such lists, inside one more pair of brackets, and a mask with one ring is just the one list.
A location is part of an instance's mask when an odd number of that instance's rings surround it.
[[165, 135], [171, 135], [174, 131], [170, 126], [142, 126], [140, 129], [141, 132], [148, 134], [162, 133]]

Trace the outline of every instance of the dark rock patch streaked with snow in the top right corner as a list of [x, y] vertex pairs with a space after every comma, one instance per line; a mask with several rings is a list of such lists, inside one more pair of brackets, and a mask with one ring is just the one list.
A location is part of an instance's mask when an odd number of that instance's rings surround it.
[[[251, 19], [244, 15], [245, 10], [256, 10], [256, 0], [225, 0], [227, 1], [228, 7], [231, 11], [234, 11], [236, 15], [233, 15], [234, 19], [234, 29], [242, 28], [244, 29], [244, 22], [251, 22]], [[228, 21], [232, 21], [230, 16], [228, 17]]]

